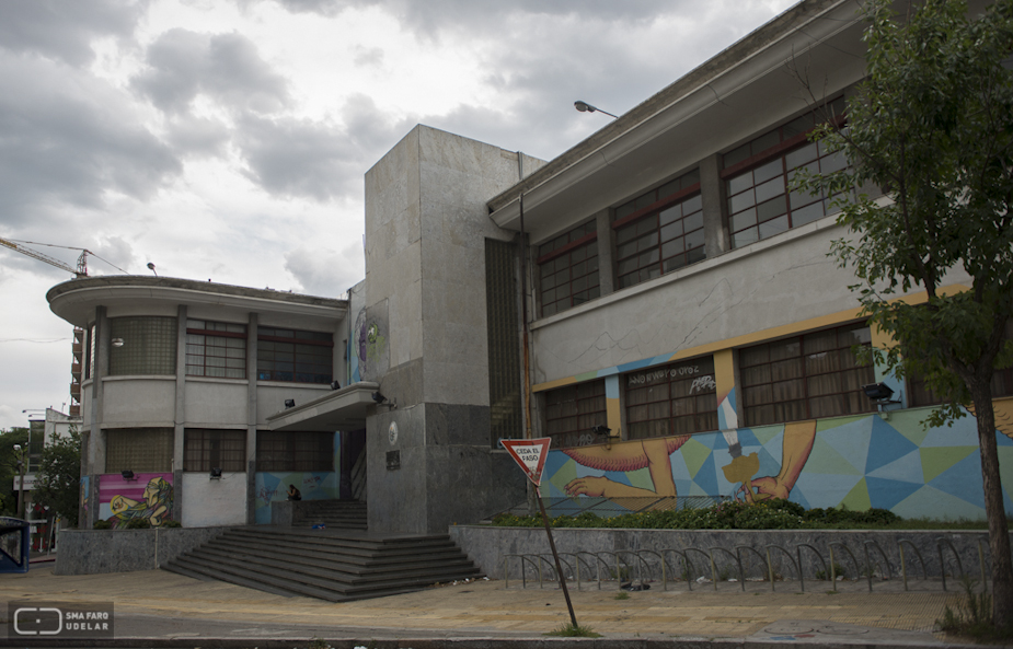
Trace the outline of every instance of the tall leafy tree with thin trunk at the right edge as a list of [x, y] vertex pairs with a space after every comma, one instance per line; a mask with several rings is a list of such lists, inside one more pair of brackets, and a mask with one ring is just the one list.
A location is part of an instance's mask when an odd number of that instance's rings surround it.
[[[872, 351], [876, 361], [924, 378], [946, 399], [929, 422], [952, 424], [962, 407], [977, 416], [992, 618], [1006, 626], [1013, 564], [990, 382], [1013, 362], [1003, 337], [1013, 315], [1013, 1], [975, 18], [957, 0], [911, 5], [906, 16], [889, 0], [865, 5], [866, 79], [848, 102], [847, 125], [815, 135], [849, 166], [796, 183], [838, 196], [849, 236], [831, 255], [854, 270], [864, 313], [894, 340]], [[893, 200], [855, 196], [870, 185]], [[943, 290], [954, 270], [970, 276], [967, 290]], [[916, 288], [926, 304], [900, 299]]]

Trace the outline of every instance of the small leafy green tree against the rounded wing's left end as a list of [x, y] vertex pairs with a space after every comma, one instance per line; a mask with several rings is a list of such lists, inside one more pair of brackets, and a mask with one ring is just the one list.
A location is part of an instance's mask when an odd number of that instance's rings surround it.
[[81, 436], [76, 427], [70, 427], [68, 437], [54, 433], [43, 449], [33, 499], [48, 507], [50, 515], [77, 525], [81, 502]]

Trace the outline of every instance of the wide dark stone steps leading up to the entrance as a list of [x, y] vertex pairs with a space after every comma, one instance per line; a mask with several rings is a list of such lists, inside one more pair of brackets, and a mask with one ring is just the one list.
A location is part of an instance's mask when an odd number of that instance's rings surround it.
[[447, 535], [380, 538], [338, 530], [234, 528], [163, 568], [279, 595], [330, 602], [482, 577]]

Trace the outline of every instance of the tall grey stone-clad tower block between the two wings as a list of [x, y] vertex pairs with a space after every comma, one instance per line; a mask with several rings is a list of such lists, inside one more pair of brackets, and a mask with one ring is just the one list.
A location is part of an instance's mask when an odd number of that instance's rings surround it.
[[523, 497], [490, 443], [485, 240], [514, 235], [485, 200], [540, 164], [417, 126], [366, 174], [366, 312], [388, 356], [365, 376], [392, 404], [367, 424], [372, 531], [444, 531]]

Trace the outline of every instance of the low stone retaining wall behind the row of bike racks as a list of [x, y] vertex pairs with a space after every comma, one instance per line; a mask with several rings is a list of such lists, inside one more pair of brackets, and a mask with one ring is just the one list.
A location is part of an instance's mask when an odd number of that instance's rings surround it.
[[[683, 549], [688, 547], [700, 548], [707, 552], [709, 548], [720, 547], [735, 554], [736, 548], [740, 546], [755, 548], [757, 554], [745, 551], [741, 553], [743, 564], [747, 577], [762, 577], [765, 575], [765, 564], [763, 557], [768, 546], [771, 551], [771, 561], [774, 570], [785, 579], [795, 579], [795, 568], [793, 561], [788, 560], [785, 554], [790, 554], [797, 560], [798, 547], [807, 545], [810, 547], [802, 548], [803, 575], [806, 579], [813, 579], [817, 571], [824, 570], [824, 563], [819, 560], [821, 555], [824, 560], [829, 561], [830, 544], [833, 546], [833, 560], [844, 568], [848, 577], [853, 578], [863, 573], [865, 568], [865, 548], [866, 542], [875, 542], [886, 555], [886, 561], [894, 578], [900, 578], [900, 552], [899, 545], [905, 547], [905, 564], [907, 565], [908, 578], [914, 579], [922, 577], [921, 563], [911, 549], [911, 545], [902, 543], [905, 541], [913, 544], [921, 554], [925, 564], [925, 570], [930, 578], [939, 578], [940, 553], [937, 549], [937, 540], [944, 540], [943, 563], [946, 565], [946, 575], [958, 575], [957, 563], [954, 559], [954, 552], [951, 549], [948, 542], [956, 549], [959, 556], [960, 566], [966, 575], [978, 578], [980, 575], [980, 563], [978, 559], [979, 542], [983, 553], [986, 565], [989, 565], [988, 534], [980, 532], [949, 532], [949, 531], [902, 531], [902, 532], [879, 532], [879, 531], [822, 531], [822, 530], [611, 530], [611, 529], [553, 529], [556, 548], [560, 553], [619, 553], [620, 556], [633, 566], [637, 563], [632, 555], [623, 554], [624, 551], [654, 551], [663, 554], [661, 551], [667, 548]], [[488, 525], [456, 525], [450, 528], [450, 536], [454, 542], [481, 567], [482, 571], [491, 578], [502, 579], [504, 576], [504, 558], [506, 555], [517, 554], [544, 554], [550, 556], [549, 541], [544, 528], [496, 528]], [[839, 545], [838, 545], [839, 544]], [[874, 567], [875, 575], [886, 573], [884, 558], [876, 549], [876, 545], [870, 543], [868, 554], [870, 563]], [[779, 546], [787, 551], [782, 552], [773, 546]], [[851, 556], [842, 549], [847, 547], [854, 555], [859, 564], [857, 570]], [[815, 548], [815, 552], [811, 549]], [[693, 563], [693, 573], [697, 577], [711, 576], [709, 558], [704, 554], [690, 552], [688, 553]], [[660, 561], [656, 556], [644, 553], [645, 560], [652, 565], [645, 569], [651, 572], [652, 579], [660, 579]], [[666, 554], [669, 566], [679, 573], [682, 571], [681, 560], [678, 555]], [[603, 555], [610, 565], [614, 564], [614, 557]], [[573, 561], [573, 559], [569, 559]], [[718, 571], [730, 572], [735, 576], [738, 571], [734, 565], [734, 559], [723, 552], [714, 553], [714, 560]], [[594, 560], [589, 560], [589, 565]], [[724, 570], [722, 568], [725, 567]], [[529, 570], [532, 570], [529, 567]], [[566, 571], [566, 568], [564, 568]], [[669, 575], [671, 571], [669, 571]], [[586, 575], [586, 572], [585, 572]], [[520, 577], [520, 560], [510, 559], [509, 567], [510, 578]]]

